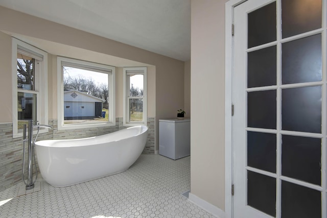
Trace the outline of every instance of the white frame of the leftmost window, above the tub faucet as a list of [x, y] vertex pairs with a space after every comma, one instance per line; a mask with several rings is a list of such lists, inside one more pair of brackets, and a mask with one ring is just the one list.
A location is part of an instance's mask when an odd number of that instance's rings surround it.
[[[20, 90], [17, 88], [17, 53], [24, 50], [34, 57], [42, 58], [42, 61], [35, 59], [34, 62], [34, 90]], [[30, 45], [26, 42], [12, 38], [12, 132], [13, 138], [22, 137], [22, 131], [18, 130], [18, 91], [22, 93], [36, 94], [36, 120], [40, 124], [48, 125], [48, 53]], [[39, 133], [49, 132], [48, 129], [40, 129]], [[36, 130], [34, 130], [36, 133]]]

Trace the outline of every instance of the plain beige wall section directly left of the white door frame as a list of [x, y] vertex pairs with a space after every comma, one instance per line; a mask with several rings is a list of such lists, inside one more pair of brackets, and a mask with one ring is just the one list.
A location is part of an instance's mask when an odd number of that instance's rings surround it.
[[191, 193], [224, 210], [225, 2], [191, 1]]

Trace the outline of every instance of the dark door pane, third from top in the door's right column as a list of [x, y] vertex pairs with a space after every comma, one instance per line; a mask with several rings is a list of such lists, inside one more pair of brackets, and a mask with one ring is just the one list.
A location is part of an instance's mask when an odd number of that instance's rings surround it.
[[282, 90], [282, 129], [321, 133], [321, 86]]

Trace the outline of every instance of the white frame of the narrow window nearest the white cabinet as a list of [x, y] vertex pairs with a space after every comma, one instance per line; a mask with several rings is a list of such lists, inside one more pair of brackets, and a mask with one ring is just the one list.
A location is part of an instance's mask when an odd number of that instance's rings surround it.
[[[124, 126], [147, 126], [147, 67], [124, 67], [123, 68], [123, 125]], [[143, 99], [143, 120], [142, 122], [129, 122], [129, 80], [127, 79], [128, 74], [143, 75], [143, 97], [137, 97], [135, 99]]]

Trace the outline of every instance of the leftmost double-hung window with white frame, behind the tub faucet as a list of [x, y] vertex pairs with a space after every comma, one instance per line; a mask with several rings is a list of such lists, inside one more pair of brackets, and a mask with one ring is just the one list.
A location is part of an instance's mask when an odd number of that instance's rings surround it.
[[[24, 124], [48, 124], [48, 54], [12, 39], [13, 137], [21, 137]], [[48, 132], [48, 129], [40, 129]]]

